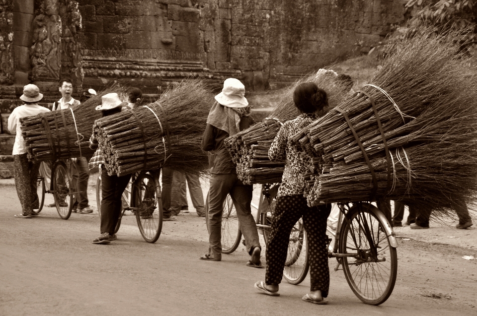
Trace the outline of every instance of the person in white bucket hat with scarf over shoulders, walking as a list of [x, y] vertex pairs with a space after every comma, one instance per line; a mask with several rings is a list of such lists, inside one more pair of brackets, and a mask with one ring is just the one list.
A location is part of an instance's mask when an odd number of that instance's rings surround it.
[[248, 128], [253, 120], [245, 98], [245, 87], [235, 78], [224, 82], [222, 92], [209, 112], [207, 126], [202, 138], [202, 149], [209, 152], [210, 189], [206, 220], [209, 229], [209, 252], [202, 260], [220, 261], [222, 255], [221, 224], [224, 201], [230, 193], [239, 217], [240, 231], [245, 237], [245, 246], [250, 260], [248, 266], [263, 267], [260, 262], [261, 247], [255, 220], [251, 214], [252, 186], [244, 185], [236, 173], [224, 140], [240, 130]]

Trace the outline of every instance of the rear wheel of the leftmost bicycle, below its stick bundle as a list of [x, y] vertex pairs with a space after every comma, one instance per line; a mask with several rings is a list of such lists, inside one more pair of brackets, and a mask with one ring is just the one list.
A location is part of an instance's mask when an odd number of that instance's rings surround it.
[[59, 161], [53, 170], [53, 194], [56, 210], [63, 219], [70, 218], [73, 208], [73, 181], [64, 162]]

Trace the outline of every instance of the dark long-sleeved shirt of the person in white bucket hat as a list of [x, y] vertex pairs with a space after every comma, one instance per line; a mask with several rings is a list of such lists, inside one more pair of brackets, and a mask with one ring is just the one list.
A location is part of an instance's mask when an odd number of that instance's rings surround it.
[[[240, 119], [240, 130], [248, 128], [253, 123], [250, 117]], [[229, 137], [229, 133], [213, 125], [207, 124], [204, 136], [202, 137], [202, 150], [209, 152], [210, 173], [226, 174], [236, 173], [236, 165], [232, 162], [232, 157], [225, 147], [224, 140]]]

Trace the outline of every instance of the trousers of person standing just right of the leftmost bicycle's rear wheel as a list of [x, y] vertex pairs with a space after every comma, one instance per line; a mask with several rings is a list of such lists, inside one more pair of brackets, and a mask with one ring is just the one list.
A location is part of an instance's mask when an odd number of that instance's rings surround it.
[[[75, 159], [75, 158], [72, 158]], [[88, 159], [85, 157], [76, 158], [76, 164], [71, 164], [71, 175], [73, 178], [73, 188], [75, 188], [75, 199], [73, 208], [82, 209], [89, 205], [88, 201], [88, 179], [89, 167]]]

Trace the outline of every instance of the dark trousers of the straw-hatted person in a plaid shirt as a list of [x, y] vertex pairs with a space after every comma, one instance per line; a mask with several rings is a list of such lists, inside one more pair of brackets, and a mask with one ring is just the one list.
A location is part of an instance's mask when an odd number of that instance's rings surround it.
[[101, 234], [114, 234], [121, 214], [121, 195], [128, 186], [131, 175], [108, 176], [105, 168], [101, 168]]

